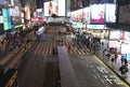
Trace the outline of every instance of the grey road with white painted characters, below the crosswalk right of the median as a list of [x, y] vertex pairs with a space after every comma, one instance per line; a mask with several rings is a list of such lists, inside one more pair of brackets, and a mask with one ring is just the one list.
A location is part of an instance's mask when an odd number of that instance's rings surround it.
[[126, 87], [125, 83], [94, 56], [69, 55], [79, 87]]

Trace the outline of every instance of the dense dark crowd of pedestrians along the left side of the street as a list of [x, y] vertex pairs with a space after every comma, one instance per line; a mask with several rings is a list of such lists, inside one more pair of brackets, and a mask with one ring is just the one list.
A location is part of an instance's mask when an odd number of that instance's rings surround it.
[[25, 37], [31, 31], [31, 29], [27, 30], [16, 30], [15, 33], [13, 31], [9, 31], [5, 33], [5, 38], [0, 41], [0, 53], [6, 53], [13, 50], [15, 47], [21, 47], [23, 42], [25, 42]]

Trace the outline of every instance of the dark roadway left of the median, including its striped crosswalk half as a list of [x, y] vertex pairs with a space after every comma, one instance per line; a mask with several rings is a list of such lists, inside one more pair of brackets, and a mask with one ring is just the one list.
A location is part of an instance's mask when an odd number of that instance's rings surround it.
[[56, 55], [52, 55], [54, 41], [39, 41], [26, 54], [18, 68], [20, 87], [60, 87]]

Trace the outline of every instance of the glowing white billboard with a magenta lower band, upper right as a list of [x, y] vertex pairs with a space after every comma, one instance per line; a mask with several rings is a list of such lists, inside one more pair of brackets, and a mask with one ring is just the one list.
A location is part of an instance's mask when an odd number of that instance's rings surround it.
[[103, 24], [104, 23], [104, 9], [105, 4], [91, 5], [91, 23]]

